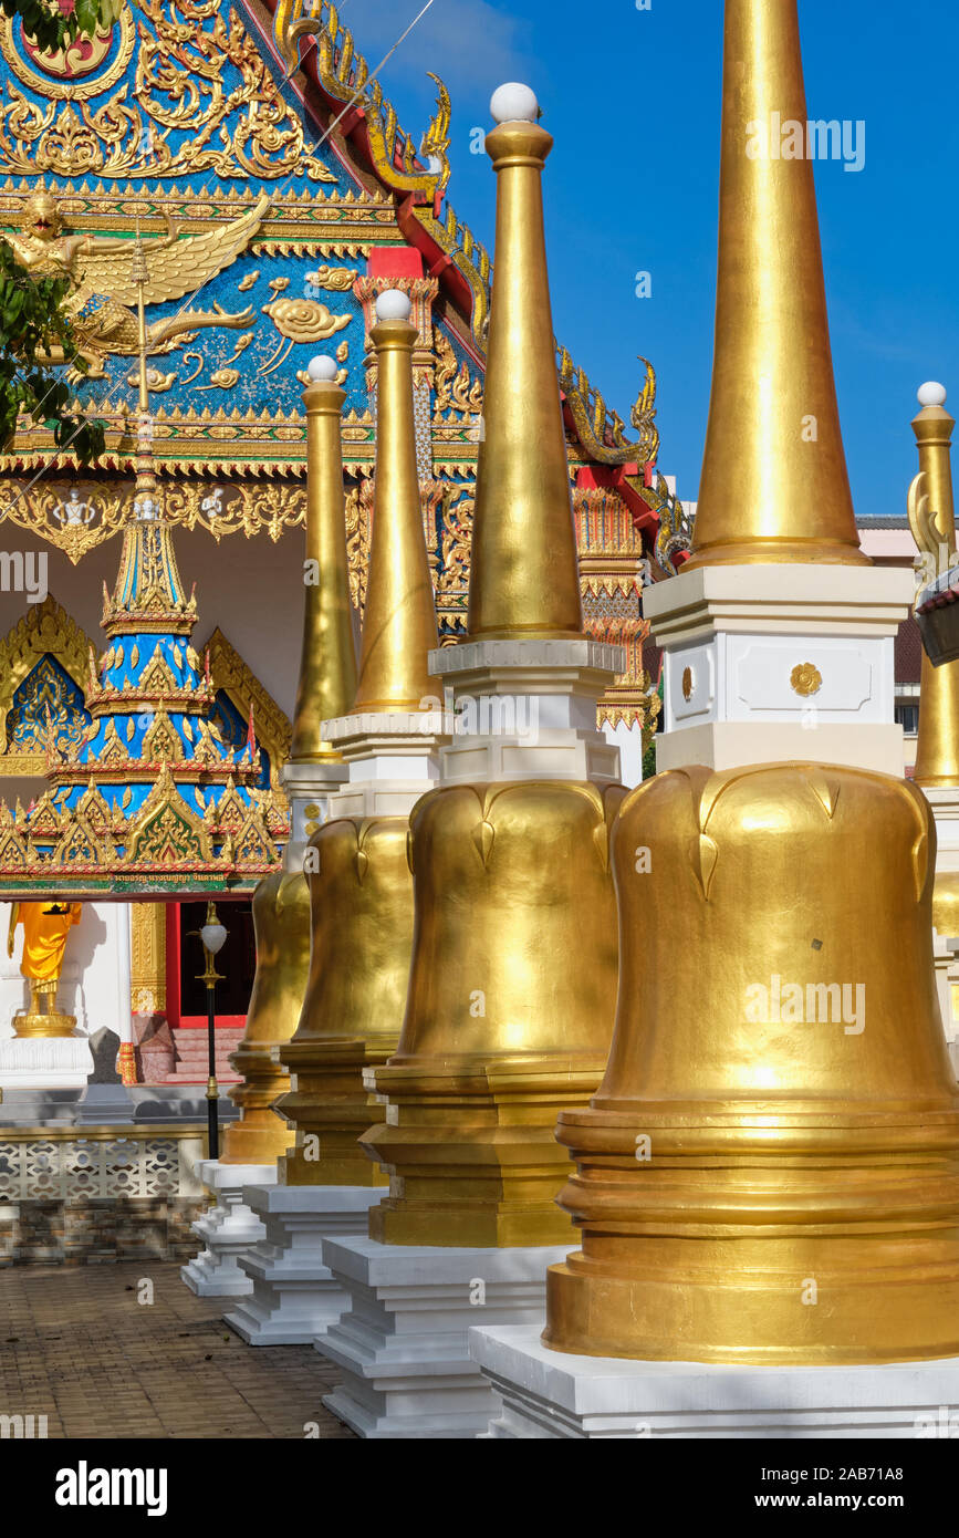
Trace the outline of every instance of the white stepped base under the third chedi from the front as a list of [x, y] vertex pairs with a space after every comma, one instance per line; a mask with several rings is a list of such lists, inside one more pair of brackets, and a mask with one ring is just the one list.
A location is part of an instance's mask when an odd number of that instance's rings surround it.
[[349, 1304], [324, 1264], [327, 1235], [366, 1233], [380, 1186], [247, 1186], [264, 1235], [240, 1258], [249, 1292], [224, 1315], [247, 1346], [309, 1346]]

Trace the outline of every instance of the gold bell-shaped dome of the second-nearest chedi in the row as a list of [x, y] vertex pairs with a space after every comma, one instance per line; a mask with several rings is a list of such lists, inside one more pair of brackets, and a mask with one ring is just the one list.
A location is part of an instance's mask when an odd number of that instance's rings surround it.
[[561, 1244], [569, 1160], [553, 1137], [609, 1050], [616, 909], [609, 829], [626, 791], [518, 781], [413, 807], [416, 934], [389, 1121], [363, 1138], [392, 1173], [389, 1244]]

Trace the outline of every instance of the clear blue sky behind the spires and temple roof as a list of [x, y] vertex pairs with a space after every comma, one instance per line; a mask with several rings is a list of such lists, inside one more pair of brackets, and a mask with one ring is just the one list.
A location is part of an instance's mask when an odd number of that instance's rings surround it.
[[[346, 0], [370, 66], [423, 0]], [[865, 122], [865, 168], [816, 168], [839, 409], [856, 512], [901, 512], [927, 378], [959, 404], [956, 0], [799, 0], [810, 117]], [[470, 154], [503, 80], [536, 91], [556, 335], [626, 421], [656, 368], [661, 468], [699, 483], [713, 351], [721, 0], [435, 0], [381, 80], [418, 134], [453, 98], [456, 212], [492, 246], [493, 175]], [[652, 274], [636, 298], [635, 275]]]

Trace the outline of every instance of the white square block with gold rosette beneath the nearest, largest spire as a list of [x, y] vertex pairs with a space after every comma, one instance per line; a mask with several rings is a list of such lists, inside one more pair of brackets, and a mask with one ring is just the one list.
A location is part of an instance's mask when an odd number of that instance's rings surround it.
[[730, 564], [642, 595], [664, 649], [656, 769], [805, 760], [904, 774], [893, 647], [914, 577], [899, 568]]

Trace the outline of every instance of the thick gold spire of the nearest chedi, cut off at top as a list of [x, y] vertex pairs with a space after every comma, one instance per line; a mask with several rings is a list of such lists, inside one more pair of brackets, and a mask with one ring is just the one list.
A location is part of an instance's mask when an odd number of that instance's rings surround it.
[[[796, 0], [727, 0], [713, 391], [687, 569], [870, 564], [839, 431], [810, 137]], [[796, 140], [802, 158], [784, 158]]]

